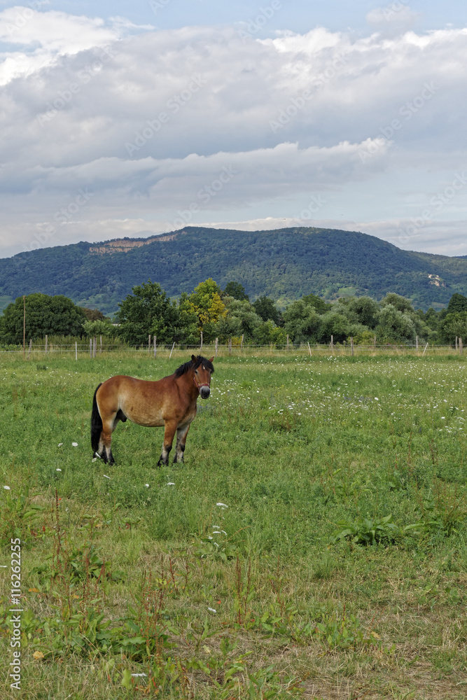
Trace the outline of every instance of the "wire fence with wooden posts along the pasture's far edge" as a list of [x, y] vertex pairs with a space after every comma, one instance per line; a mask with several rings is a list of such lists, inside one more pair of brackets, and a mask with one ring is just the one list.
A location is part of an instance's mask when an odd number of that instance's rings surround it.
[[462, 340], [459, 338], [455, 345], [437, 345], [428, 342], [417, 344], [347, 344], [330, 343], [300, 343], [300, 344], [251, 344], [237, 343], [230, 340], [228, 343], [204, 343], [204, 344], [141, 344], [128, 345], [122, 342], [100, 343], [97, 338], [90, 339], [90, 342], [74, 342], [57, 344], [45, 342], [32, 343], [29, 346], [0, 346], [2, 356], [22, 356], [26, 359], [45, 358], [46, 356], [74, 356], [76, 360], [88, 358], [95, 359], [113, 353], [141, 353], [153, 358], [158, 356], [172, 357], [181, 353], [204, 354], [214, 357], [225, 356], [258, 356], [263, 354], [295, 353], [300, 355], [326, 355], [333, 356], [356, 356], [356, 355], [379, 355], [397, 354], [412, 355], [417, 357], [445, 355], [456, 353], [463, 355]]

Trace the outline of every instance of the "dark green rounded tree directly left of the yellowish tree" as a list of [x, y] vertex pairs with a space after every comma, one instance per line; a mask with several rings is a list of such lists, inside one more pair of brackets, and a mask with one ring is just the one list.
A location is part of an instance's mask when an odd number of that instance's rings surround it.
[[158, 342], [172, 341], [178, 328], [178, 309], [158, 282], [149, 279], [134, 286], [132, 294], [118, 305], [118, 335], [127, 343], [147, 343], [148, 335], [155, 335]]

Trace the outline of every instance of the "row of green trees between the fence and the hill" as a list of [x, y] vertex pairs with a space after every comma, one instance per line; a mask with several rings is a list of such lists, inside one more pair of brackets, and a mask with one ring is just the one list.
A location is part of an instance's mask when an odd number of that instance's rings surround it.
[[112, 320], [97, 309], [79, 307], [63, 295], [41, 293], [18, 297], [0, 317], [0, 342], [20, 344], [23, 339], [23, 310], [26, 309], [26, 338], [45, 335], [92, 337], [104, 335], [130, 345], [144, 345], [148, 336], [159, 344], [228, 342], [243, 338], [246, 344], [280, 346], [293, 344], [413, 343], [419, 341], [454, 344], [456, 337], [467, 342], [467, 297], [455, 293], [447, 308], [415, 310], [409, 299], [388, 293], [377, 302], [369, 296], [342, 297], [326, 302], [308, 294], [278, 309], [272, 299], [260, 296], [250, 302], [244, 287], [231, 281], [222, 290], [211, 278], [192, 293], [170, 299], [159, 283], [148, 280], [134, 286], [120, 302]]

